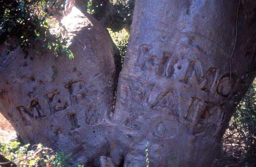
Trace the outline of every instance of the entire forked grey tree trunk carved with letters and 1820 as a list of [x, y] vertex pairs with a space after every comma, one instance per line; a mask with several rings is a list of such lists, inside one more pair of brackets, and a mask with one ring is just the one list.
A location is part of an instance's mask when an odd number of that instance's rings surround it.
[[152, 167], [211, 166], [234, 102], [255, 77], [255, 8], [136, 1], [114, 112], [111, 42], [73, 8], [66, 27], [78, 31], [75, 58], [4, 56], [1, 112], [24, 142], [72, 152], [75, 165], [146, 166], [147, 145]]

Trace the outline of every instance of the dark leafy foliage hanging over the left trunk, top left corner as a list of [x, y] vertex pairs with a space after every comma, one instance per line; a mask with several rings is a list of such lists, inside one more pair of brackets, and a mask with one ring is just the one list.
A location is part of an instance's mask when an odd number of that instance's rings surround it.
[[[1, 42], [14, 35], [23, 47], [26, 58], [28, 47], [37, 48], [35, 41], [44, 42], [49, 39], [50, 42], [44, 46], [53, 48], [56, 56], [65, 53], [73, 58], [72, 52], [66, 47], [67, 40], [63, 39], [60, 33], [51, 34], [49, 31], [56, 26], [52, 24], [53, 19], [61, 17], [65, 0], [0, 0], [0, 4]], [[43, 52], [37, 49], [39, 55]]]

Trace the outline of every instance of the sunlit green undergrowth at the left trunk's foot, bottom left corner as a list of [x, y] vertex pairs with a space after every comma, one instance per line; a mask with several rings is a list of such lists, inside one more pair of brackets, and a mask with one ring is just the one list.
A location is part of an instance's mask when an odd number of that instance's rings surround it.
[[73, 164], [71, 153], [65, 155], [63, 151], [54, 152], [42, 144], [21, 145], [17, 141], [3, 141], [0, 143], [0, 152], [6, 159], [21, 167], [68, 167]]

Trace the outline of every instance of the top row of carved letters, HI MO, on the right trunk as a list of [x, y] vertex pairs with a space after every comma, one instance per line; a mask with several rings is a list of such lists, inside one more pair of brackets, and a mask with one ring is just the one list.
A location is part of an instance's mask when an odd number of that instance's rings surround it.
[[[162, 51], [161, 55], [152, 54], [153, 49], [153, 46], [148, 44], [143, 44], [138, 48], [139, 56], [135, 63], [135, 69], [139, 71], [150, 71], [158, 76], [164, 76], [166, 78], [171, 78], [176, 68], [177, 70], [181, 69], [181, 66], [175, 66], [178, 63], [177, 56], [174, 56], [167, 51]], [[197, 59], [192, 59], [189, 60], [187, 69], [181, 77], [182, 79], [180, 79], [180, 82], [187, 85], [196, 84], [201, 90], [210, 92], [213, 87], [215, 88], [214, 84], [217, 83], [218, 74], [219, 70], [217, 67], [211, 67], [204, 72], [201, 63]], [[233, 82], [232, 79], [232, 83], [237, 83], [237, 80], [234, 80]], [[233, 84], [232, 87], [234, 87]], [[129, 86], [127, 88], [132, 90]], [[127, 98], [128, 89], [125, 90], [126, 93], [122, 94], [124, 97], [123, 99]], [[230, 92], [230, 81], [226, 75], [223, 75], [217, 86], [217, 93], [226, 97]], [[141, 93], [143, 94], [142, 91]], [[122, 102], [126, 103], [127, 101]]]

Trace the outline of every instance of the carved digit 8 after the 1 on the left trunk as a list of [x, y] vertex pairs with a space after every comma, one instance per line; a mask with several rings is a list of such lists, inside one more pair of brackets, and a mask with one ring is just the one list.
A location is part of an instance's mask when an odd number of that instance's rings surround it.
[[96, 108], [90, 107], [85, 111], [85, 122], [88, 125], [98, 125], [102, 122], [102, 117]]

